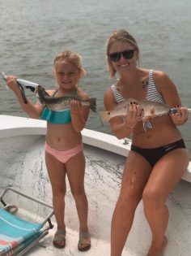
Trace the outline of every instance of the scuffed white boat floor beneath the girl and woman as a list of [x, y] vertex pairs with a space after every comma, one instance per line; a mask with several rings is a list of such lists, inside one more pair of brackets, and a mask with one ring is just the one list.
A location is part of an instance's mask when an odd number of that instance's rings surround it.
[[[18, 143], [18, 137], [11, 140], [1, 139], [0, 167], [1, 184], [0, 192], [6, 186], [20, 189], [23, 193], [29, 193], [33, 197], [52, 203], [52, 190], [47, 176], [44, 157], [45, 137], [25, 138], [21, 137], [22, 146]], [[11, 146], [14, 145], [14, 148]], [[87, 160], [85, 188], [89, 202], [89, 229], [91, 232], [91, 249], [83, 254], [91, 256], [108, 256], [110, 251], [110, 223], [112, 212], [117, 202], [120, 189], [121, 174], [125, 163], [125, 157], [111, 152], [85, 145]], [[78, 170], [76, 170], [78, 171]], [[170, 213], [167, 237], [168, 246], [164, 255], [189, 256], [191, 251], [191, 184], [181, 180], [176, 189], [170, 194], [167, 206]], [[7, 197], [11, 203], [11, 197]], [[15, 200], [15, 199], [14, 199]], [[28, 215], [41, 215], [45, 210], [39, 206], [24, 203], [17, 198], [18, 206], [24, 206]], [[83, 255], [78, 251], [79, 220], [74, 205], [74, 199], [70, 193], [67, 182], [66, 193], [66, 248], [53, 247], [54, 228], [49, 235], [40, 241], [28, 255]], [[146, 223], [142, 202], [139, 204], [134, 217], [134, 225], [129, 233], [124, 253], [122, 255], [143, 256], [150, 246], [151, 231]]]

